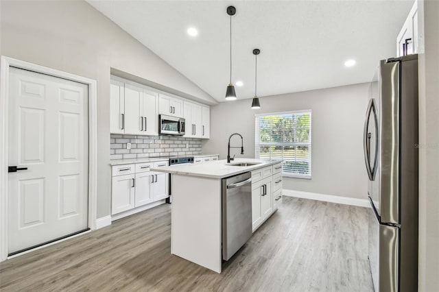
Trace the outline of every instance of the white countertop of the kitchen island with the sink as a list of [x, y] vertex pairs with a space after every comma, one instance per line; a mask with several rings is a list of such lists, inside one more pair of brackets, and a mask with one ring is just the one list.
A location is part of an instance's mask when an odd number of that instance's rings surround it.
[[[230, 164], [239, 162], [260, 162], [257, 165], [248, 167], [237, 167]], [[231, 161], [230, 164], [226, 160], [217, 160], [204, 162], [200, 164], [188, 164], [188, 165], [172, 165], [169, 167], [152, 168], [151, 171], [161, 171], [171, 174], [180, 175], [192, 175], [200, 176], [204, 178], [228, 178], [232, 175], [252, 171], [261, 167], [267, 167], [269, 165], [275, 165], [281, 162], [281, 160], [260, 160], [254, 158], [236, 158]]]

